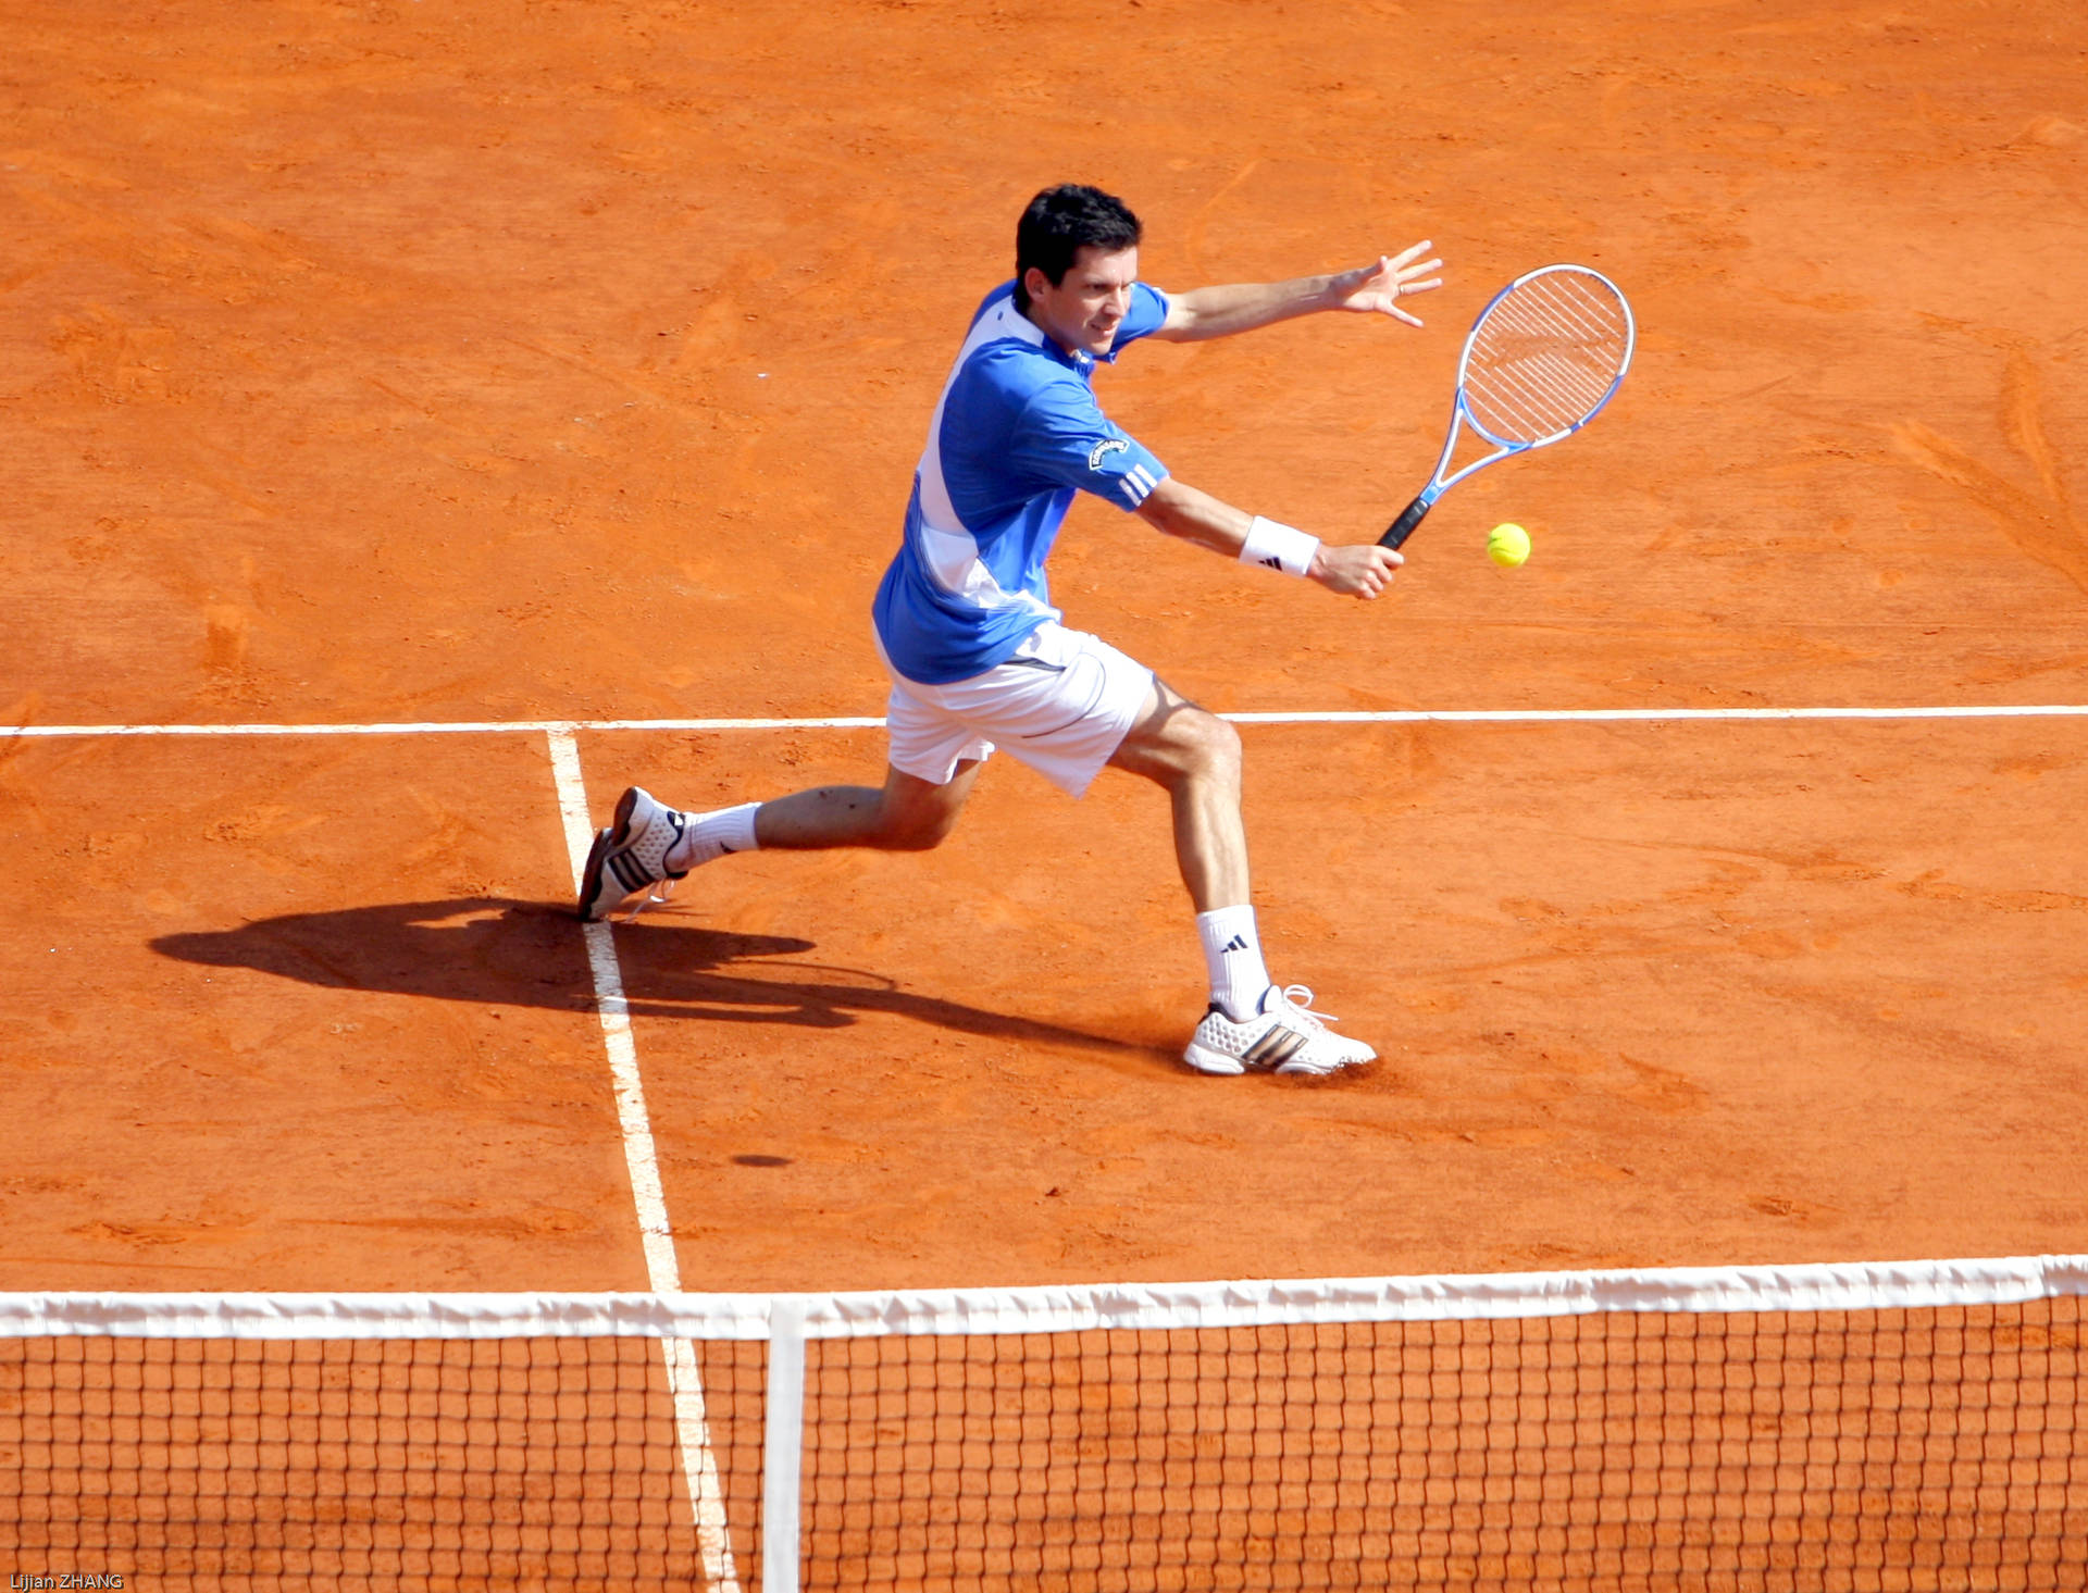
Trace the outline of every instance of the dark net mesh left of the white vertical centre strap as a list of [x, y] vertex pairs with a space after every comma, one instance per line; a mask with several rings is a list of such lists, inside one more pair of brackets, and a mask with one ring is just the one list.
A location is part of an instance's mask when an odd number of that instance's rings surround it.
[[[725, 1514], [748, 1526], [760, 1349], [704, 1345], [691, 1361]], [[0, 1564], [21, 1574], [693, 1589], [691, 1499], [668, 1361], [647, 1338], [0, 1340]], [[758, 1541], [739, 1547], [758, 1576]]]

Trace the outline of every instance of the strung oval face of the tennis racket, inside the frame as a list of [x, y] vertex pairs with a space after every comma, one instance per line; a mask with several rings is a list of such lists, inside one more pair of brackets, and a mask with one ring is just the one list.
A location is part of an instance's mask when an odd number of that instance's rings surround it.
[[1616, 386], [1631, 357], [1631, 319], [1591, 274], [1547, 271], [1487, 311], [1466, 357], [1466, 403], [1503, 443], [1572, 430]]

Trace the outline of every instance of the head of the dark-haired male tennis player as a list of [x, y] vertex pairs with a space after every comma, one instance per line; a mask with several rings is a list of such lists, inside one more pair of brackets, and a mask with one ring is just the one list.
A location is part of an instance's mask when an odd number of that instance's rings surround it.
[[1046, 188], [1015, 225], [1015, 309], [1059, 347], [1107, 355], [1132, 303], [1142, 234], [1115, 194]]

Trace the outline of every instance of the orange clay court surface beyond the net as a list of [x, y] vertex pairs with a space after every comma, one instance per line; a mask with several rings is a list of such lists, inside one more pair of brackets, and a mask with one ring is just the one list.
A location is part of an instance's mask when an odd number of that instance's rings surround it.
[[[580, 727], [593, 823], [875, 781], [821, 720], [883, 712], [869, 597], [1048, 182], [1169, 288], [1434, 240], [1424, 332], [1098, 382], [1332, 539], [1426, 478], [1495, 286], [1639, 317], [1374, 605], [1075, 507], [1069, 624], [1205, 706], [2088, 704], [2084, 71], [2061, 0], [13, 8], [0, 1284], [647, 1286], [551, 739], [501, 727]], [[1332, 1081], [1180, 1067], [1128, 775], [706, 869], [614, 931], [681, 1282], [2088, 1249], [2080, 712], [1249, 722], [1272, 969], [1382, 1052]], [[589, 729], [689, 718], [791, 724]]]

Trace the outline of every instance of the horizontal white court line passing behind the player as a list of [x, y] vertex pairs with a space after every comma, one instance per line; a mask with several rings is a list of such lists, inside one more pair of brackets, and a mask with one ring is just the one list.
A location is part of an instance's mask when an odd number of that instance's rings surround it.
[[[2088, 718], [2088, 704], [1969, 708], [1384, 708], [1219, 714], [1234, 724], [1618, 724], [1681, 720]], [[0, 724], [0, 741], [98, 735], [549, 735], [599, 731], [875, 731], [883, 718], [489, 718], [397, 724]]]

